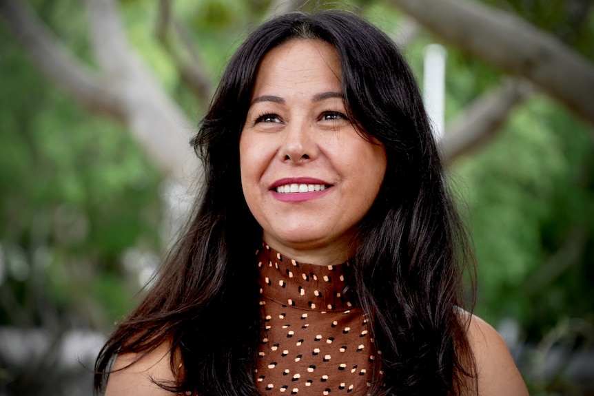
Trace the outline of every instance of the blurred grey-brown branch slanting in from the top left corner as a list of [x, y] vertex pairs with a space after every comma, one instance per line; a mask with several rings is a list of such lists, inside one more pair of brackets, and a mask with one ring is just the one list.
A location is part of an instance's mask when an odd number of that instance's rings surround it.
[[123, 121], [121, 97], [109, 81], [74, 59], [25, 2], [0, 0], [0, 12], [43, 75], [87, 110]]

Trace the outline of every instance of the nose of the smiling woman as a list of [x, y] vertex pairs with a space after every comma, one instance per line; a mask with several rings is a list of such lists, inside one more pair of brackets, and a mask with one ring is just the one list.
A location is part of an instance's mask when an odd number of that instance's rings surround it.
[[280, 157], [291, 163], [305, 163], [318, 156], [314, 126], [311, 123], [293, 121], [285, 127]]

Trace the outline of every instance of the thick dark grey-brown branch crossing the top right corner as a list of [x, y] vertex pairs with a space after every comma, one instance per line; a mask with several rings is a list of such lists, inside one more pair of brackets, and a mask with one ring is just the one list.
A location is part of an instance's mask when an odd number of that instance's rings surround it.
[[461, 50], [523, 76], [594, 125], [594, 67], [513, 14], [466, 0], [391, 0]]

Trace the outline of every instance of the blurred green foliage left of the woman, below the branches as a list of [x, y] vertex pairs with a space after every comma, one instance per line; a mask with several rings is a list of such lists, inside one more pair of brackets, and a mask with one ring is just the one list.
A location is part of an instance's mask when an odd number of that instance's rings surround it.
[[138, 287], [123, 252], [161, 243], [161, 176], [123, 127], [90, 117], [0, 40], [0, 324], [97, 311], [105, 329]]

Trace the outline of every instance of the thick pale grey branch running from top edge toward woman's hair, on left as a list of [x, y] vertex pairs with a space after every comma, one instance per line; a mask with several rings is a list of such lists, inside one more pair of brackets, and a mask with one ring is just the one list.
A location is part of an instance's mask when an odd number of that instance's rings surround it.
[[133, 136], [165, 174], [190, 185], [199, 172], [189, 144], [192, 123], [128, 45], [114, 1], [87, 0], [86, 5], [96, 56], [123, 98]]

